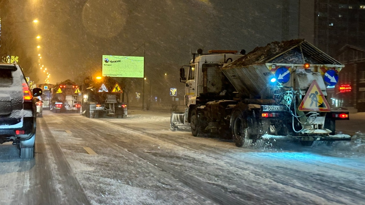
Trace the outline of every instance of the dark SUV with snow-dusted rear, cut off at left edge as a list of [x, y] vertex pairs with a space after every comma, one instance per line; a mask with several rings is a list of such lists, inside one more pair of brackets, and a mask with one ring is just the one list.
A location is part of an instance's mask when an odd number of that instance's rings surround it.
[[0, 144], [13, 142], [20, 149], [20, 158], [34, 157], [37, 107], [22, 69], [18, 64], [0, 63]]

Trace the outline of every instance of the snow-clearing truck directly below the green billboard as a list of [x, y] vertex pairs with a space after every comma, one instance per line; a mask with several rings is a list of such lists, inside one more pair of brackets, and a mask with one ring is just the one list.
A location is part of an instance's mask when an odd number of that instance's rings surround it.
[[85, 78], [82, 91], [82, 112], [89, 118], [127, 117], [127, 103], [123, 102], [123, 88], [111, 77]]

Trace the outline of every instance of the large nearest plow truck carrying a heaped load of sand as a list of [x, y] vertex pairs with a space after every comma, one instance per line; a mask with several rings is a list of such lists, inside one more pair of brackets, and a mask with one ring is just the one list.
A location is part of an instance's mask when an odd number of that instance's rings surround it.
[[190, 65], [181, 67], [187, 108], [172, 113], [171, 130], [190, 124], [193, 136], [215, 134], [233, 139], [237, 147], [266, 140], [297, 140], [304, 146], [350, 140], [335, 134], [335, 121], [349, 120], [349, 112], [332, 110], [326, 99], [341, 63], [304, 39], [236, 53], [199, 49]]

